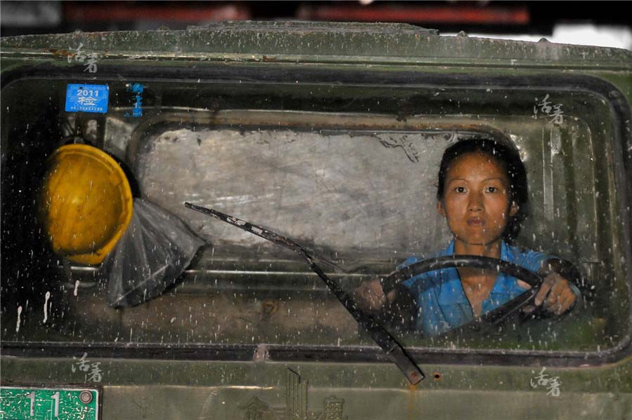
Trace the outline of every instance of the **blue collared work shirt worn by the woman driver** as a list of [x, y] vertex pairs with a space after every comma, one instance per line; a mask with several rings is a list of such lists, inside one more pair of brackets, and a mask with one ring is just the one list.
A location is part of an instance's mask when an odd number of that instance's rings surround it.
[[[454, 254], [454, 241], [433, 257], [445, 257]], [[550, 255], [535, 251], [521, 251], [516, 247], [501, 243], [501, 259], [513, 262], [531, 271], [538, 271], [541, 264]], [[410, 257], [397, 266], [402, 269], [415, 262], [423, 261], [421, 257]], [[461, 278], [456, 268], [429, 271], [409, 278], [402, 283], [412, 293], [417, 304], [416, 329], [426, 337], [442, 334], [454, 327], [459, 327], [474, 320], [472, 306], [463, 292]], [[510, 301], [518, 294], [525, 292], [518, 285], [518, 280], [508, 274], [499, 273], [489, 296], [482, 302], [481, 313], [487, 313]]]

